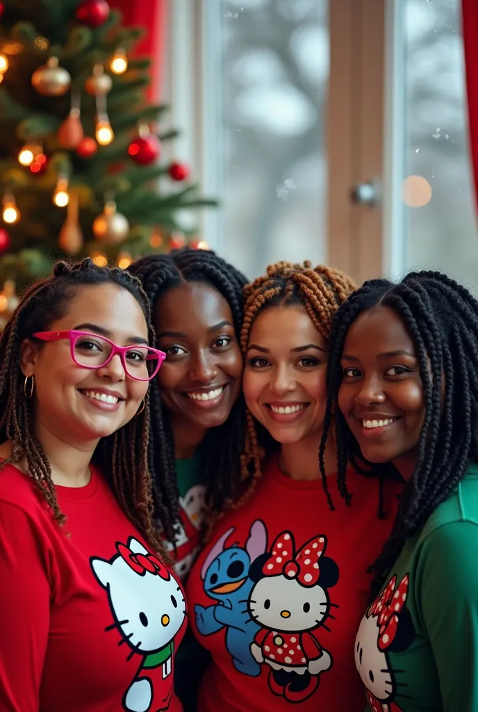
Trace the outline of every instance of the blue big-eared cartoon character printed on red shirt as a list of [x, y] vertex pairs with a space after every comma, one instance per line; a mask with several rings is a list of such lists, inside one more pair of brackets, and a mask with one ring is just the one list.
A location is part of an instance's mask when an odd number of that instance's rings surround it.
[[225, 647], [236, 670], [255, 677], [260, 674], [250, 652], [258, 630], [248, 611], [253, 582], [248, 577], [250, 565], [267, 550], [267, 530], [256, 520], [250, 528], [245, 548], [225, 543], [235, 527], [228, 529], [211, 549], [201, 569], [204, 591], [217, 601], [213, 606], [196, 605], [196, 626], [201, 635], [212, 635], [225, 629]]

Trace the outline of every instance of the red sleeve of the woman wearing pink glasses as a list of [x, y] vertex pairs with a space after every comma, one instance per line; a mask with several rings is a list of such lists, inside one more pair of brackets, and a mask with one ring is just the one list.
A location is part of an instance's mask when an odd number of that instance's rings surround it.
[[0, 709], [38, 712], [50, 625], [50, 584], [38, 527], [0, 502]]

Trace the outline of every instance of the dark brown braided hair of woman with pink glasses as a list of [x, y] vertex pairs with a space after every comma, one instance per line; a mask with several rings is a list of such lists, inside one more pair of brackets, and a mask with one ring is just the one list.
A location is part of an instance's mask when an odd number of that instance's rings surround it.
[[[65, 523], [55, 494], [48, 457], [33, 429], [33, 399], [23, 392], [21, 343], [32, 334], [46, 331], [68, 313], [79, 288], [112, 284], [126, 289], [137, 300], [147, 321], [149, 339], [154, 339], [149, 302], [141, 283], [117, 267], [97, 267], [90, 258], [78, 263], [58, 262], [53, 276], [36, 282], [23, 295], [0, 339], [0, 437], [9, 440], [11, 454], [0, 464], [26, 459], [28, 472], [51, 507], [58, 524]], [[41, 348], [41, 344], [38, 345]], [[129, 520], [161, 555], [164, 545], [153, 525], [152, 481], [147, 466], [149, 397], [142, 414], [97, 445], [93, 461], [110, 478], [112, 491]]]

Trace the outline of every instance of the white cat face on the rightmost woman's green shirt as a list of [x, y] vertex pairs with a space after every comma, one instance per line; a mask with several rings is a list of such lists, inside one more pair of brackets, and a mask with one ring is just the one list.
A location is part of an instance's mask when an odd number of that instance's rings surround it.
[[381, 702], [393, 696], [393, 677], [384, 651], [378, 648], [376, 616], [363, 616], [355, 640], [355, 664], [366, 689]]

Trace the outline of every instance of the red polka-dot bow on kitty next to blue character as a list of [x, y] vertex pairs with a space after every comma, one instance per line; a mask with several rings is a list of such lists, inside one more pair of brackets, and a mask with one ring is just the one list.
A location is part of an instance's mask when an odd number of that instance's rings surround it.
[[319, 558], [324, 553], [326, 541], [323, 536], [310, 539], [295, 553], [294, 536], [282, 532], [272, 544], [272, 554], [262, 567], [266, 576], [284, 574], [297, 579], [302, 586], [315, 586], [319, 580]]

